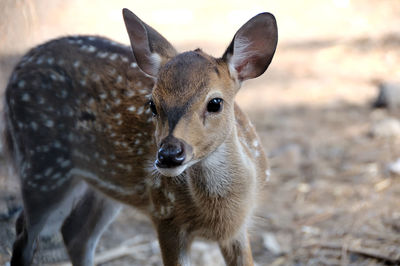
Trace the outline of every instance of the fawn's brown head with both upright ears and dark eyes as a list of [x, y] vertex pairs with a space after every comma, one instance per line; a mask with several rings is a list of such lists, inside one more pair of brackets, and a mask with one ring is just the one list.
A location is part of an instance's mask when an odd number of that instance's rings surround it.
[[253, 17], [214, 58], [200, 49], [178, 53], [131, 11], [123, 16], [138, 66], [154, 79], [155, 166], [163, 175], [180, 175], [235, 133], [235, 95], [243, 81], [268, 68], [278, 40], [275, 18]]

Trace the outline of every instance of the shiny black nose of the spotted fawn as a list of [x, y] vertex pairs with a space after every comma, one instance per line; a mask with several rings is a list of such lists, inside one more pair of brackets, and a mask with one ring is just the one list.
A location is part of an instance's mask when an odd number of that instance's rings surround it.
[[185, 147], [176, 138], [167, 138], [161, 144], [157, 154], [156, 164], [160, 168], [176, 167], [185, 160]]

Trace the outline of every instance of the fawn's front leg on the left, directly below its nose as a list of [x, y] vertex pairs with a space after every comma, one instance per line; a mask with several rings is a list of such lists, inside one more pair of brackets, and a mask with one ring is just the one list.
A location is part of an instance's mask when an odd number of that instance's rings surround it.
[[171, 220], [163, 220], [156, 225], [158, 241], [165, 266], [188, 266], [191, 239], [185, 231]]

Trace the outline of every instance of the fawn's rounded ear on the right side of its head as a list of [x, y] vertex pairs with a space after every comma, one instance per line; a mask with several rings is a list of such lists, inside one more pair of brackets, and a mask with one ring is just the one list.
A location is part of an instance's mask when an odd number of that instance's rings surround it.
[[275, 17], [261, 13], [250, 19], [235, 34], [222, 59], [239, 81], [256, 78], [268, 68], [278, 43]]

